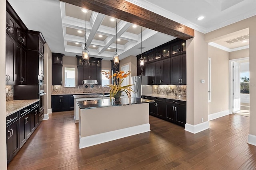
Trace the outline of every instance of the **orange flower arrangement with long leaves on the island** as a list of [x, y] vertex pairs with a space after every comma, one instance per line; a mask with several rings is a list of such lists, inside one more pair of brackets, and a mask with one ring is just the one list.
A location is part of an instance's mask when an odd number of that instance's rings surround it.
[[114, 73], [113, 75], [110, 75], [110, 72], [105, 72], [105, 71], [101, 71], [102, 74], [108, 78], [108, 79], [113, 79], [113, 84], [106, 84], [105, 86], [110, 87], [110, 99], [113, 97], [114, 95], [116, 95], [118, 93], [118, 91], [121, 92], [126, 92], [126, 94], [128, 95], [128, 97], [131, 96], [130, 92], [133, 92], [132, 88], [130, 86], [132, 86], [133, 84], [129, 84], [126, 86], [121, 86], [122, 82], [124, 81], [124, 78], [128, 77], [131, 72], [127, 71], [116, 71], [116, 73]]

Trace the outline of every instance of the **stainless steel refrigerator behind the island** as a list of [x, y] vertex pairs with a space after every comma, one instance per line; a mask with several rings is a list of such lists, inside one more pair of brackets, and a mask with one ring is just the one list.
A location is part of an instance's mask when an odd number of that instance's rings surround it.
[[152, 86], [148, 85], [148, 76], [132, 76], [132, 97], [141, 98], [142, 95], [152, 94]]

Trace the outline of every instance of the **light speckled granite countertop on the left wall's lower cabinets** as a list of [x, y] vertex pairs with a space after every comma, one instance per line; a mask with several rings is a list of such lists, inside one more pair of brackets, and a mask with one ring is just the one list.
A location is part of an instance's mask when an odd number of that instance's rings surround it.
[[10, 102], [6, 102], [6, 117], [38, 101], [39, 99], [12, 100]]

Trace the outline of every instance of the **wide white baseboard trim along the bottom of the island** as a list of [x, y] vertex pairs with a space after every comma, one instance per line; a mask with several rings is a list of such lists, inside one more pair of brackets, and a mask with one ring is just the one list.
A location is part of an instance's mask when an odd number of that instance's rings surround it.
[[150, 124], [146, 123], [143, 125], [127, 127], [124, 129], [118, 129], [116, 131], [110, 131], [105, 133], [100, 133], [97, 135], [91, 135], [88, 137], [81, 137], [79, 135], [79, 149], [90, 147], [93, 145], [98, 145], [100, 143], [105, 143], [109, 141], [114, 141], [116, 139], [137, 135], [139, 133], [144, 133], [150, 131]]

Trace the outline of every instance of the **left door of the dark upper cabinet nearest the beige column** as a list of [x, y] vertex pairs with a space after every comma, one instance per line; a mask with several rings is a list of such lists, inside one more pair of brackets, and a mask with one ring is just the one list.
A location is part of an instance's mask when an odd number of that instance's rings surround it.
[[171, 58], [171, 84], [180, 84], [180, 55]]

